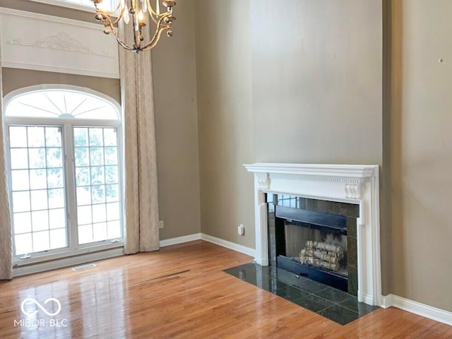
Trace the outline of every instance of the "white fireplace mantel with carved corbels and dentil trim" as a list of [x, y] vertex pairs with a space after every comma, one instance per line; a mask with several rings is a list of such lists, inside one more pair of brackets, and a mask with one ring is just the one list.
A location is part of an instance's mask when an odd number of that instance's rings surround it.
[[268, 266], [266, 193], [355, 203], [359, 205], [358, 300], [380, 305], [379, 166], [256, 163], [244, 167], [254, 173], [256, 262]]

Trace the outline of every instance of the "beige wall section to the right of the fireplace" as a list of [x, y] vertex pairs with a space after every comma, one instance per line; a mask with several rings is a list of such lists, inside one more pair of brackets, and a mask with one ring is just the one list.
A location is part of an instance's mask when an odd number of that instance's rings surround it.
[[451, 13], [449, 0], [392, 4], [391, 292], [446, 311], [452, 311]]

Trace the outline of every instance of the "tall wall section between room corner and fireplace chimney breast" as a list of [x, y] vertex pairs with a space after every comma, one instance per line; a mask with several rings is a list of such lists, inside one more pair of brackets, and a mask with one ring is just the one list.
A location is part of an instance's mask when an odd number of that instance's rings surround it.
[[196, 13], [201, 231], [254, 248], [249, 1], [196, 1]]

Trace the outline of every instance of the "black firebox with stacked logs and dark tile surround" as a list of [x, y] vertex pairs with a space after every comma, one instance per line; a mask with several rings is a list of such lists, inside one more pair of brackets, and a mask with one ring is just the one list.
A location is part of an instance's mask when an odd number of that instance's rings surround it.
[[282, 194], [267, 204], [270, 264], [357, 295], [357, 206]]

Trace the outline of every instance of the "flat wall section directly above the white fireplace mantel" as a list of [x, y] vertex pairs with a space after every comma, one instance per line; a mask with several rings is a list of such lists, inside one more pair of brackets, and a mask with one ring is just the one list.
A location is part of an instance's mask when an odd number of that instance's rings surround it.
[[255, 160], [381, 165], [381, 1], [251, 4]]

